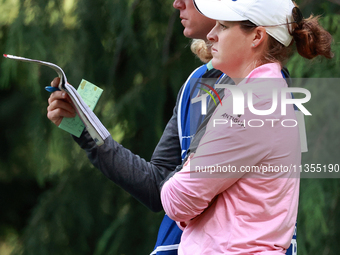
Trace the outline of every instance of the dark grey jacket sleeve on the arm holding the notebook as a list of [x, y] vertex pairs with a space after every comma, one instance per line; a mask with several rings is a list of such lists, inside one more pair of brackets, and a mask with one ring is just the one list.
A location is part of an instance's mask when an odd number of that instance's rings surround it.
[[163, 209], [159, 193], [160, 183], [182, 163], [177, 127], [177, 108], [182, 89], [178, 94], [173, 115], [150, 162], [133, 154], [111, 136], [102, 146], [97, 146], [87, 131], [84, 131], [80, 138], [74, 137], [96, 168], [154, 212]]

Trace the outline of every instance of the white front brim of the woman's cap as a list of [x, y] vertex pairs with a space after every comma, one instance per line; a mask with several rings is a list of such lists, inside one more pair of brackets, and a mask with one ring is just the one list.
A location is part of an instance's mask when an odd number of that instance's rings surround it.
[[247, 18], [229, 8], [229, 1], [221, 0], [193, 0], [196, 9], [204, 16], [214, 20], [242, 21]]

